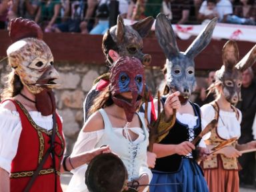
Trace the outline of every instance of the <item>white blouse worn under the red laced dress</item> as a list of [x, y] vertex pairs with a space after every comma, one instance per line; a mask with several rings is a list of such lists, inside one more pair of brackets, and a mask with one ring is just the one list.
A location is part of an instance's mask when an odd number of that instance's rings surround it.
[[[38, 111], [29, 111], [29, 115], [39, 127], [47, 131], [53, 129], [52, 115], [42, 116]], [[8, 173], [11, 171], [11, 161], [17, 153], [21, 130], [19, 113], [0, 105], [0, 167]]]

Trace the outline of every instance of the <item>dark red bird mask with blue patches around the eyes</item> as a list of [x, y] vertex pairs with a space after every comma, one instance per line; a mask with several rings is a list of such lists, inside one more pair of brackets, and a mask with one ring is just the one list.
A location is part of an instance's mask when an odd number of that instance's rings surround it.
[[[128, 122], [141, 105], [145, 85], [144, 69], [135, 57], [121, 57], [115, 62], [110, 73], [110, 89], [114, 103], [125, 110]], [[131, 99], [120, 93], [131, 92]]]

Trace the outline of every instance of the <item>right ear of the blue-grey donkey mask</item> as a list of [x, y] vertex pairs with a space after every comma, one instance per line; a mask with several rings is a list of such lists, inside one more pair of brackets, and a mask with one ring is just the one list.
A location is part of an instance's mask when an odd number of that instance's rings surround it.
[[217, 23], [217, 18], [213, 18], [203, 31], [197, 36], [193, 43], [185, 51], [185, 55], [190, 58], [195, 58], [195, 56], [203, 51], [205, 47], [210, 43], [211, 36], [213, 35], [213, 29]]

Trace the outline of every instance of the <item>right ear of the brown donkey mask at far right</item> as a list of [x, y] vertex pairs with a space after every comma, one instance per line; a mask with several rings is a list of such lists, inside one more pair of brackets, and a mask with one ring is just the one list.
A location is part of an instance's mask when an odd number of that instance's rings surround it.
[[256, 61], [256, 45], [254, 45], [254, 47], [251, 48], [251, 50], [245, 55], [245, 57], [243, 57], [243, 59], [241, 59], [241, 61], [239, 61], [239, 63], [237, 63], [237, 65], [235, 65], [235, 67], [240, 71], [244, 71], [248, 67], [251, 67], [251, 65], [253, 65], [255, 61]]

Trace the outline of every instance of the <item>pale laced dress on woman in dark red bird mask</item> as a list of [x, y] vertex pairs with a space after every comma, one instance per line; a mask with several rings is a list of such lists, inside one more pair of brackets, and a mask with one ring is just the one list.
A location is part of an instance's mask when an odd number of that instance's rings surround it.
[[[85, 151], [90, 151], [91, 149], [97, 148], [101, 145], [109, 145], [111, 150], [114, 153], [117, 153], [125, 164], [129, 181], [139, 178], [139, 176], [143, 175], [144, 173], [149, 176], [149, 181], [151, 181], [152, 173], [147, 165], [147, 145], [149, 143], [149, 133], [145, 127], [143, 117], [139, 115], [139, 118], [143, 124], [143, 129], [140, 127], [134, 127], [132, 129], [128, 128], [138, 135], [135, 141], [129, 141], [123, 136], [123, 129], [112, 127], [109, 117], [107, 117], [107, 113], [104, 111], [104, 109], [100, 109], [99, 112], [103, 116], [105, 128], [99, 131], [87, 133], [80, 131], [71, 157]], [[74, 175], [69, 183], [67, 192], [88, 191], [85, 185], [86, 169], [87, 165], [81, 165], [80, 167], [77, 167], [71, 171]], [[145, 191], [147, 191], [147, 189], [145, 189]]]

